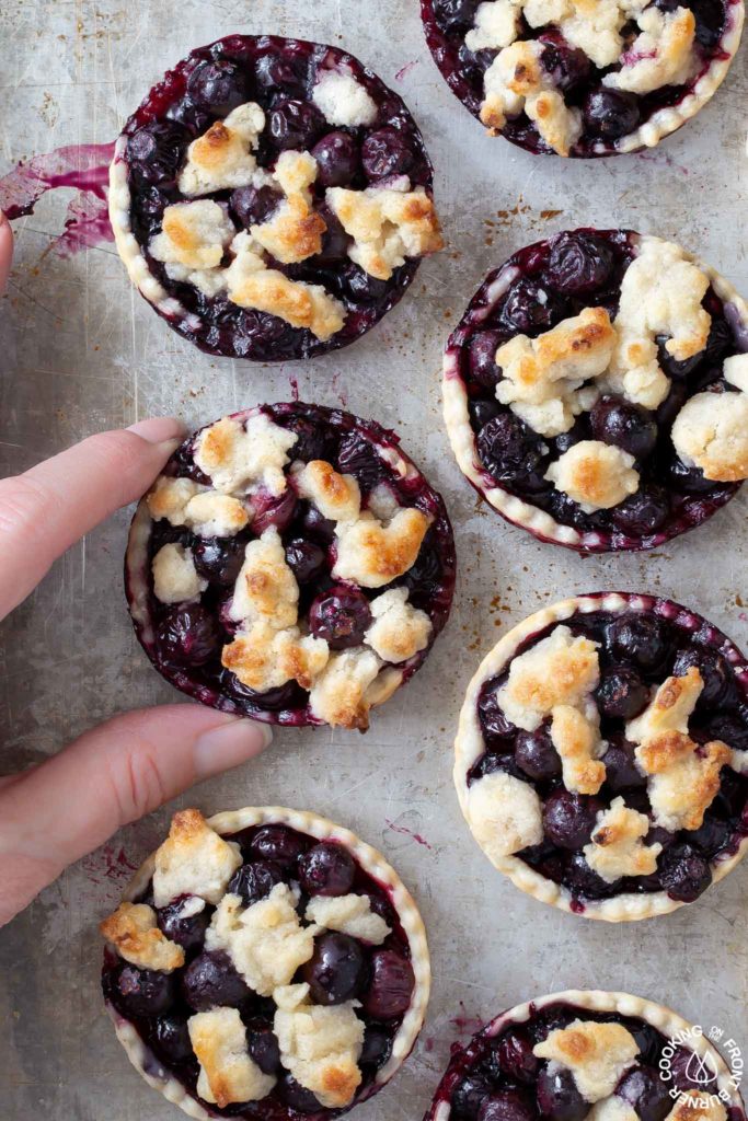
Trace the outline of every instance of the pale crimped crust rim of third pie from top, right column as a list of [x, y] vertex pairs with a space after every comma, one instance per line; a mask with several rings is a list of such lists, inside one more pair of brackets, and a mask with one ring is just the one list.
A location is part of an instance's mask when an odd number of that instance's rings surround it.
[[[696, 615], [672, 600], [655, 599], [650, 595], [638, 595], [631, 592], [592, 592], [562, 600], [528, 615], [516, 627], [512, 627], [504, 638], [499, 639], [493, 649], [483, 658], [468, 686], [460, 713], [458, 735], [454, 741], [454, 785], [460, 799], [460, 808], [471, 832], [472, 826], [468, 814], [467, 776], [484, 751], [483, 734], [478, 720], [478, 695], [483, 682], [499, 674], [527, 639], [553, 623], [565, 622], [579, 613], [589, 614], [592, 611], [618, 613], [631, 610], [646, 611], [647, 613], [655, 611], [658, 615], [671, 620], [677, 618], [680, 624], [694, 632], [710, 626], [701, 615]], [[736, 679], [744, 692], [748, 694], [748, 663], [738, 648], [715, 627], [712, 627], [711, 631], [719, 640], [720, 652], [730, 663]], [[710, 861], [712, 883], [717, 883], [732, 871], [746, 855], [746, 852], [748, 852], [748, 836], [741, 840], [737, 852], [732, 855], [724, 860]], [[491, 860], [491, 863], [499, 872], [508, 876], [515, 887], [526, 895], [539, 899], [541, 902], [551, 904], [560, 910], [579, 914], [572, 907], [572, 895], [567, 888], [541, 876], [518, 856], [501, 856]], [[671, 899], [666, 891], [643, 895], [626, 892], [610, 899], [585, 900], [582, 917], [602, 919], [606, 923], [631, 923], [641, 918], [653, 918], [656, 915], [667, 915], [683, 906], [682, 901]]]

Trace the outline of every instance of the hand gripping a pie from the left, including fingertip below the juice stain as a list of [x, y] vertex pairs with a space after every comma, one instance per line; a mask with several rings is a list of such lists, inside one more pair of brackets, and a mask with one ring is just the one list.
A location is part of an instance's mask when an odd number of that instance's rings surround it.
[[[0, 291], [12, 256], [1, 219]], [[140, 498], [183, 435], [170, 418], [142, 420], [0, 480], [0, 619], [71, 545]], [[118, 828], [259, 754], [270, 739], [249, 720], [164, 705], [116, 716], [45, 762], [0, 778], [0, 925]]]

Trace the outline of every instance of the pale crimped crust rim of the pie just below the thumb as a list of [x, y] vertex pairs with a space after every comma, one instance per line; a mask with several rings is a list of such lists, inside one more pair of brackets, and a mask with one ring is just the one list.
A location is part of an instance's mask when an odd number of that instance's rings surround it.
[[[377, 1072], [371, 1085], [366, 1088], [361, 1096], [354, 1100], [350, 1108], [359, 1105], [381, 1090], [405, 1063], [413, 1050], [426, 1015], [426, 1006], [428, 1004], [428, 994], [431, 991], [431, 961], [426, 943], [426, 929], [410, 892], [381, 853], [359, 840], [350, 830], [344, 828], [342, 825], [336, 825], [334, 822], [317, 814], [302, 809], [287, 809], [284, 806], [247, 806], [242, 809], [228, 809], [215, 814], [213, 817], [207, 818], [207, 824], [221, 836], [239, 833], [242, 830], [257, 825], [288, 825], [290, 828], [317, 837], [320, 841], [338, 841], [349, 850], [369, 876], [388, 889], [390, 902], [397, 911], [398, 919], [410, 946], [410, 964], [415, 973], [416, 984], [410, 1007], [405, 1013], [403, 1023], [393, 1040], [393, 1053], [388, 1062]], [[142, 862], [130, 880], [122, 901], [132, 902], [147, 889], [154, 874], [154, 858], [155, 853], [151, 853]], [[198, 1121], [210, 1121], [211, 1118], [215, 1117], [215, 1114], [210, 1113], [200, 1102], [192, 1097], [182, 1083], [172, 1077], [168, 1072], [164, 1071], [163, 1076], [155, 1073], [157, 1064], [154, 1063], [151, 1053], [144, 1044], [133, 1025], [120, 1016], [110, 1004], [107, 1006], [107, 1010], [114, 1023], [117, 1038], [124, 1047], [130, 1063], [149, 1086], [158, 1090], [169, 1102], [178, 1105], [190, 1117], [197, 1118]], [[321, 1109], [321, 1113], [325, 1114], [327, 1112]], [[335, 1115], [340, 1112], [345, 1111], [336, 1110]], [[311, 1114], [311, 1117], [313, 1115]]]

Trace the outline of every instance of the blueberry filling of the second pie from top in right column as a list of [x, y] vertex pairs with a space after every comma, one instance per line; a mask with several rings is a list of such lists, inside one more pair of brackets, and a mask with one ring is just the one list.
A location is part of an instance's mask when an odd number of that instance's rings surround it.
[[[486, 487], [499, 487], [557, 524], [589, 535], [581, 546], [589, 552], [661, 545], [711, 517], [739, 488], [739, 483], [711, 482], [699, 467], [685, 466], [671, 438], [673, 421], [690, 397], [707, 389], [733, 389], [722, 377], [722, 363], [745, 350], [711, 286], [702, 302], [712, 318], [705, 349], [694, 359], [676, 362], [661, 346], [659, 363], [672, 385], [656, 410], [607, 395], [590, 413], [582, 413], [570, 432], [548, 438], [496, 399], [502, 374], [495, 355], [502, 343], [518, 334], [535, 337], [585, 307], [604, 307], [615, 318], [621, 279], [636, 256], [635, 239], [626, 230], [574, 230], [519, 250], [488, 275], [447, 343], [468, 393]], [[492, 299], [491, 286], [507, 274], [511, 282]], [[628, 499], [592, 513], [545, 479], [551, 463], [587, 439], [631, 454], [640, 476], [638, 490]]]

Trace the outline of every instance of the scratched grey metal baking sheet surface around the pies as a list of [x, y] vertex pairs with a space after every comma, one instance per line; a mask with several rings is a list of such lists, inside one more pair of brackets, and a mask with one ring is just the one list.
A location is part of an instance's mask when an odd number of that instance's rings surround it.
[[[357, 345], [310, 365], [262, 369], [213, 361], [183, 343], [132, 294], [111, 247], [71, 260], [45, 256], [67, 202], [47, 196], [17, 224], [0, 304], [0, 470], [19, 471], [149, 414], [175, 413], [193, 426], [286, 399], [293, 377], [302, 399], [342, 402], [397, 428], [444, 492], [461, 565], [455, 609], [407, 691], [376, 715], [366, 739], [280, 732], [261, 761], [183, 799], [206, 810], [308, 806], [380, 846], [414, 889], [433, 954], [430, 1016], [405, 1071], [358, 1111], [359, 1121], [415, 1121], [452, 1039], [506, 1006], [567, 985], [663, 1001], [722, 1026], [745, 1051], [748, 865], [705, 901], [655, 923], [609, 928], [563, 915], [520, 895], [477, 850], [452, 788], [451, 743], [465, 684], [501, 628], [569, 593], [671, 594], [748, 645], [740, 603], [747, 497], [648, 556], [582, 560], [541, 546], [477, 506], [442, 428], [438, 371], [446, 332], [483, 272], [565, 225], [631, 225], [678, 239], [748, 293], [746, 49], [699, 119], [657, 150], [576, 164], [483, 138], [427, 54], [416, 0], [2, 0], [0, 174], [58, 145], [113, 139], [167, 65], [230, 31], [343, 44], [401, 92], [436, 166], [447, 250]], [[43, 759], [121, 710], [178, 700], [131, 633], [121, 594], [127, 522], [122, 513], [73, 549], [2, 628], [3, 770]], [[177, 1117], [131, 1071], [104, 1018], [95, 930], [127, 862], [154, 847], [167, 816], [129, 828], [71, 869], [0, 936], [0, 1114], [8, 1121]]]

